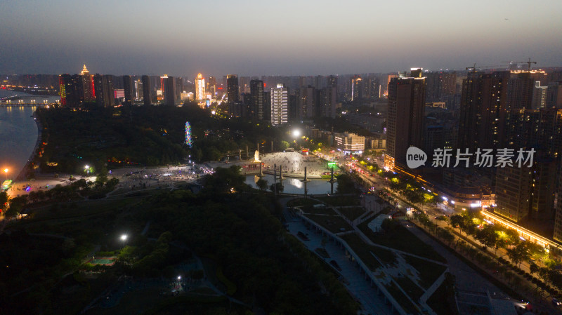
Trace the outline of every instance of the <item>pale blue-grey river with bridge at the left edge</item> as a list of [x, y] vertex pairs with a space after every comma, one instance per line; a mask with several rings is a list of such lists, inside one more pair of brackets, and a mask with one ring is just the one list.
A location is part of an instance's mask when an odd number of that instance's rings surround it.
[[[0, 98], [18, 95], [21, 99], [38, 99], [41, 96], [22, 92], [0, 90]], [[58, 97], [50, 96], [49, 101]], [[12, 102], [18, 102], [12, 100]], [[37, 124], [32, 115], [37, 107], [0, 107], [0, 182], [15, 180], [30, 158], [37, 142]], [[4, 173], [4, 169], [8, 173]]]

